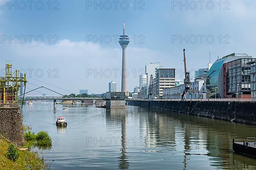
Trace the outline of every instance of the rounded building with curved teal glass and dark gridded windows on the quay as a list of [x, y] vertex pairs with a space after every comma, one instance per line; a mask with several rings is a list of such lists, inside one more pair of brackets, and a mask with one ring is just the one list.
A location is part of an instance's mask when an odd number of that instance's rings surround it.
[[[248, 98], [250, 65], [255, 61], [247, 54], [230, 54], [214, 62], [207, 74], [207, 98]], [[248, 82], [249, 81], [249, 82]], [[236, 94], [239, 94], [236, 96]]]

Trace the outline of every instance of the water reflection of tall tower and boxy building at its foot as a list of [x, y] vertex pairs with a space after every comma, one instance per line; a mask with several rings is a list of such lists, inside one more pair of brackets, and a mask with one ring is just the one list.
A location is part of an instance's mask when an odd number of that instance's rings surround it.
[[119, 169], [126, 170], [129, 168], [128, 156], [126, 151], [126, 109], [106, 109], [106, 122], [111, 127], [121, 125], [121, 147], [119, 159]]

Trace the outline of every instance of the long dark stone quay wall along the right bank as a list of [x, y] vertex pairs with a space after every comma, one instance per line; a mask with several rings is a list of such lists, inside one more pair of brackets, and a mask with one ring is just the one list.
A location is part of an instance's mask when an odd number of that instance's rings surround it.
[[129, 105], [256, 125], [256, 102], [126, 100]]

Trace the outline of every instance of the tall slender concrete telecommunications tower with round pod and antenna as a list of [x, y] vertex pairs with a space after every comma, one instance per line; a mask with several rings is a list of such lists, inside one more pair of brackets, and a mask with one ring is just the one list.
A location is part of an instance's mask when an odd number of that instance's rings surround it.
[[126, 94], [126, 77], [128, 75], [128, 71], [126, 70], [126, 56], [125, 56], [125, 49], [129, 44], [129, 37], [128, 35], [125, 35], [125, 21], [124, 21], [124, 32], [123, 35], [120, 35], [119, 38], [119, 44], [122, 47], [122, 87], [121, 91], [125, 92]]

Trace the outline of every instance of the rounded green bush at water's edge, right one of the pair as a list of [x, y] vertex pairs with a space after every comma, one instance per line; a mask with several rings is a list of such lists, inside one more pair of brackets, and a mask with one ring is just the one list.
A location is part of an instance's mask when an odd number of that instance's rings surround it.
[[40, 131], [35, 136], [36, 145], [40, 148], [47, 149], [52, 147], [52, 139], [49, 136], [48, 132]]

